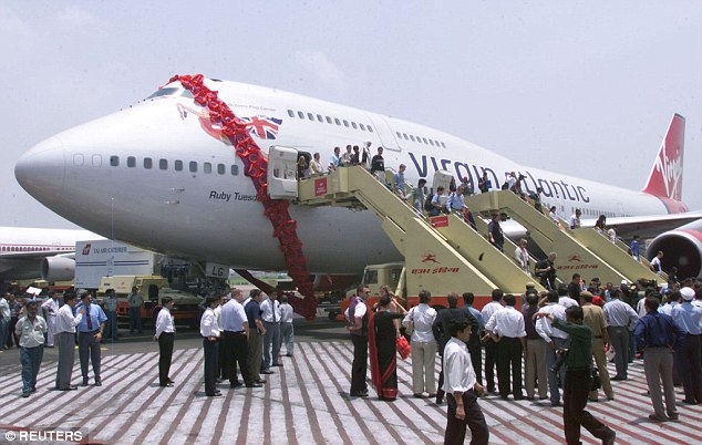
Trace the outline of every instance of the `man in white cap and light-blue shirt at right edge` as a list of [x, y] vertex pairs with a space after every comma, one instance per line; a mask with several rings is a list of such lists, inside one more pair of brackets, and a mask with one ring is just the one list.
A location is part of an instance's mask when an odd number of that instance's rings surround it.
[[682, 380], [682, 387], [685, 390], [683, 403], [696, 405], [702, 403], [702, 371], [700, 358], [700, 320], [702, 320], [702, 309], [692, 304], [694, 290], [689, 287], [680, 289], [682, 303], [672, 310], [675, 323], [686, 332], [680, 346], [678, 370]]

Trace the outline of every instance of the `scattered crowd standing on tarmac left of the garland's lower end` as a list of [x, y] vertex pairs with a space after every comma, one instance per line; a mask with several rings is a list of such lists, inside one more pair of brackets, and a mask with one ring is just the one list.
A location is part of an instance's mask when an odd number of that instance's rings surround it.
[[[138, 300], [137, 294], [138, 289], [133, 289], [130, 301]], [[109, 306], [110, 297], [106, 296], [103, 306]], [[0, 321], [4, 321], [0, 323], [0, 340], [3, 350], [13, 345], [20, 350], [22, 397], [37, 392], [37, 375], [44, 348], [53, 348], [54, 344], [59, 349], [55, 391], [78, 390], [78, 385], [71, 383], [76, 344], [81, 385], [87, 386], [92, 376], [93, 384], [102, 386], [100, 344], [110, 318], [103, 306], [94, 302], [93, 292], [83, 289], [66, 291], [63, 304], [59, 304], [53, 291], [41, 304], [33, 297], [23, 300], [20, 301], [12, 292], [6, 292], [0, 298]], [[163, 297], [161, 303], [154, 333], [159, 350], [158, 385], [173, 387], [175, 381], [169, 371], [176, 333], [172, 314], [174, 300]], [[40, 313], [42, 307], [44, 310]], [[221, 395], [217, 383], [224, 381], [228, 381], [233, 389], [262, 386], [266, 380], [261, 374], [272, 374], [271, 368], [282, 366], [283, 348], [285, 355], [292, 356], [292, 314], [288, 297], [278, 291], [267, 294], [254, 289], [245, 298], [240, 290], [234, 289], [228, 293], [219, 292], [217, 297], [207, 297], [200, 319], [205, 394]], [[131, 328], [138, 330], [141, 325], [132, 322]], [[113, 332], [116, 338], [116, 329]]]

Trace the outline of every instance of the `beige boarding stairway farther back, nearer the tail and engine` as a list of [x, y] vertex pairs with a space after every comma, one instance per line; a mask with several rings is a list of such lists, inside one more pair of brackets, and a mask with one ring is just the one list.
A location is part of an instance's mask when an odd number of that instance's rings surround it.
[[556, 267], [562, 281], [570, 281], [570, 276], [575, 272], [587, 279], [598, 277], [602, 282], [613, 283], [621, 280], [633, 282], [639, 278], [661, 279], [631, 258], [623, 244], [612, 244], [593, 228], [571, 230], [557, 224], [509, 190], [473, 195], [466, 197], [466, 205], [473, 213], [483, 215], [505, 213], [524, 226], [544, 252], [558, 253]]

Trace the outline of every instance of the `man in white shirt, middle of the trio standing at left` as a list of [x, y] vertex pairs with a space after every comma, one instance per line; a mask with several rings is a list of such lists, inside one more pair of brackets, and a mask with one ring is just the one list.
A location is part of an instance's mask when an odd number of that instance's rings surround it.
[[80, 310], [78, 315], [73, 315], [75, 308], [75, 293], [66, 292], [63, 294], [64, 304], [59, 309], [56, 314], [56, 335], [55, 343], [59, 345], [59, 369], [56, 370], [58, 391], [78, 390], [78, 386], [71, 385], [71, 374], [73, 373], [73, 362], [75, 362], [75, 327], [79, 325], [83, 318], [84, 309]]

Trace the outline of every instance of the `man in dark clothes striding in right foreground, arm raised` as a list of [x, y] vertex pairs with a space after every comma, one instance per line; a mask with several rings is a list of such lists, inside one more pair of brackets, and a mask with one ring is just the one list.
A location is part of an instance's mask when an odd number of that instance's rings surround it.
[[617, 434], [607, 425], [585, 411], [588, 404], [590, 380], [592, 379], [592, 331], [582, 324], [582, 308], [572, 306], [566, 309], [566, 321], [553, 313], [538, 312], [537, 318], [546, 317], [570, 335], [570, 349], [566, 358], [566, 382], [564, 387], [564, 428], [566, 443], [580, 444], [580, 425], [585, 426], [605, 445], [615, 443]]

